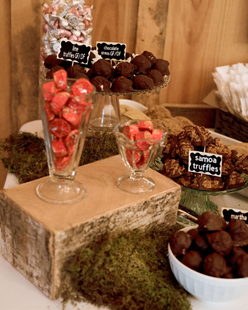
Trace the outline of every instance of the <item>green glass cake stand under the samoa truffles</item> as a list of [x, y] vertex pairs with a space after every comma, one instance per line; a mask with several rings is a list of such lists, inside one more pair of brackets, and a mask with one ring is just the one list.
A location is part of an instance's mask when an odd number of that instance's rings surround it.
[[[162, 158], [162, 149], [160, 150], [155, 161], [151, 165], [151, 168], [153, 170], [158, 171], [163, 167], [161, 158]], [[219, 215], [220, 214], [219, 208], [214, 202], [210, 201], [210, 196], [228, 195], [228, 194], [235, 193], [247, 187], [248, 186], [248, 175], [245, 173], [242, 173], [241, 177], [245, 179], [246, 184], [238, 188], [231, 188], [231, 189], [222, 190], [222, 191], [205, 191], [201, 189], [194, 189], [194, 188], [182, 186], [182, 196], [179, 202], [179, 208], [181, 206], [183, 210], [188, 210], [189, 214], [195, 215], [196, 217], [201, 215], [205, 211], [214, 211], [215, 213]], [[179, 222], [183, 222], [184, 224], [195, 225], [195, 223], [192, 223], [188, 219], [184, 218], [183, 215], [178, 216], [177, 220]]]

